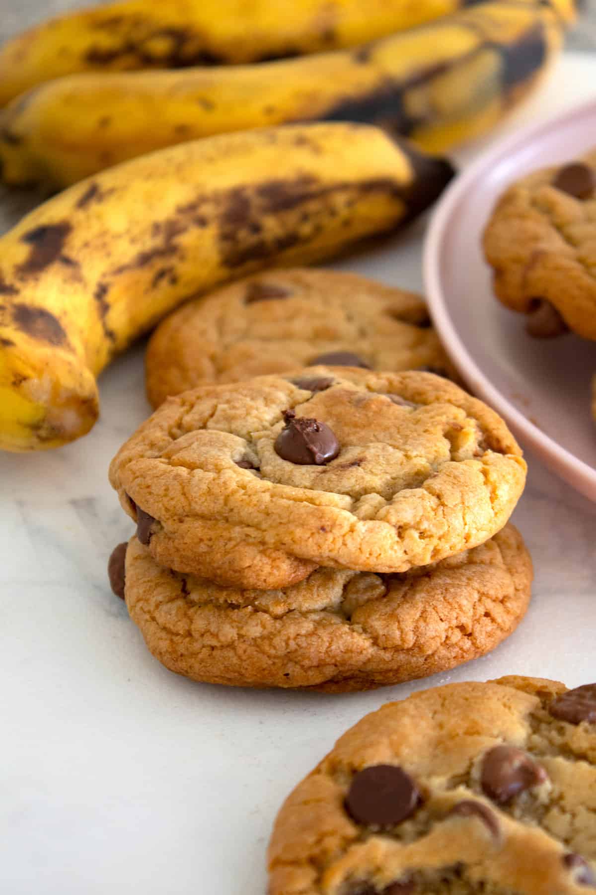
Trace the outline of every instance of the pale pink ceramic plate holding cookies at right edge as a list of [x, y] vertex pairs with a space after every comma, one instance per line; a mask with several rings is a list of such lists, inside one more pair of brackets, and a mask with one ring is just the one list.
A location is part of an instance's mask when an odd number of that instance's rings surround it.
[[507, 420], [525, 447], [596, 500], [590, 393], [596, 342], [528, 337], [524, 316], [495, 299], [480, 244], [508, 183], [593, 147], [596, 101], [517, 132], [484, 154], [457, 177], [432, 217], [424, 281], [436, 328], [470, 389]]

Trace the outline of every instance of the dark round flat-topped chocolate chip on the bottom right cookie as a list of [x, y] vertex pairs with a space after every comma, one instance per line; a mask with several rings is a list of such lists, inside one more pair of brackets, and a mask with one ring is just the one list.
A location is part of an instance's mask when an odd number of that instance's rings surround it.
[[386, 827], [402, 823], [422, 802], [416, 783], [395, 764], [374, 764], [358, 771], [346, 797], [346, 810], [357, 823]]

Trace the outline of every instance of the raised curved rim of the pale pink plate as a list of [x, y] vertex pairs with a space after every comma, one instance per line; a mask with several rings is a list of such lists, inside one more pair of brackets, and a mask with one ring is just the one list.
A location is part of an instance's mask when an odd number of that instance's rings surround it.
[[[555, 115], [540, 124], [530, 124], [500, 140], [494, 147], [483, 152], [470, 165], [456, 176], [453, 183], [443, 193], [432, 213], [429, 228], [424, 241], [423, 277], [426, 300], [431, 312], [432, 321], [437, 328], [441, 341], [449, 357], [465, 379], [466, 383], [488, 404], [491, 405], [516, 431], [518, 437], [527, 447], [532, 447], [558, 475], [563, 475], [561, 465], [565, 465], [568, 473], [573, 474], [571, 483], [578, 490], [596, 500], [596, 468], [572, 454], [567, 447], [547, 435], [536, 426], [524, 413], [513, 405], [499, 388], [491, 383], [488, 376], [469, 354], [465, 343], [459, 337], [457, 328], [448, 311], [448, 303], [443, 292], [440, 273], [441, 251], [445, 235], [454, 210], [462, 197], [473, 187], [475, 181], [483, 175], [487, 168], [496, 166], [504, 156], [521, 149], [529, 141], [535, 141], [541, 135], [552, 131], [553, 126], [568, 125], [575, 119], [586, 115], [596, 115], [596, 98], [583, 102], [560, 115]], [[595, 370], [596, 372], [596, 370]], [[567, 476], [563, 476], [567, 478]], [[569, 479], [567, 478], [567, 481]], [[580, 483], [581, 482], [581, 483]]]

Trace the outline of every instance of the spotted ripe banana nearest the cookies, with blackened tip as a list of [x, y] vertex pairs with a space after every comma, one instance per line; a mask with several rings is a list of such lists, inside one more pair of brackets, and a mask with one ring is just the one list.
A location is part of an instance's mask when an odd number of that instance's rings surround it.
[[371, 125], [304, 124], [163, 149], [55, 196], [0, 238], [0, 448], [85, 434], [99, 371], [184, 299], [389, 233], [452, 175]]

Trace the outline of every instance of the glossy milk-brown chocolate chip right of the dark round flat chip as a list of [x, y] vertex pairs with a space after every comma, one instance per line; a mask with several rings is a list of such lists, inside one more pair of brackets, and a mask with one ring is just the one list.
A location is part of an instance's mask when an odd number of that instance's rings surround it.
[[544, 780], [548, 780], [544, 768], [516, 746], [494, 746], [484, 755], [481, 786], [498, 805], [507, 805], [518, 793]]

